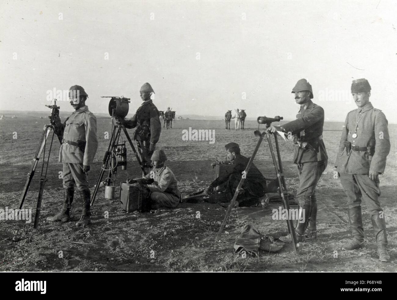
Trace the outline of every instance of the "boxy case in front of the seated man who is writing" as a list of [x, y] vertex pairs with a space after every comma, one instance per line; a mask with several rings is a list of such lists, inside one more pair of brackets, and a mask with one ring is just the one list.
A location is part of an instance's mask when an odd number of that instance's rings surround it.
[[142, 211], [143, 201], [145, 201], [143, 192], [128, 183], [120, 183], [119, 208], [126, 212]]

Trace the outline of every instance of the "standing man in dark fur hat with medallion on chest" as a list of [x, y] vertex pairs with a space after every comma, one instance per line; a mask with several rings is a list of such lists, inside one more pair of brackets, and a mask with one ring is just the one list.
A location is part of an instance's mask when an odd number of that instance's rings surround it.
[[390, 140], [387, 119], [382, 111], [372, 106], [369, 100], [370, 91], [371, 87], [366, 79], [353, 80], [351, 93], [358, 108], [347, 114], [335, 162], [341, 184], [349, 198], [347, 204], [354, 237], [342, 249], [360, 248], [364, 241], [360, 206], [361, 198], [364, 198], [371, 214], [379, 259], [389, 262], [384, 212], [378, 200], [378, 175], [385, 170]]

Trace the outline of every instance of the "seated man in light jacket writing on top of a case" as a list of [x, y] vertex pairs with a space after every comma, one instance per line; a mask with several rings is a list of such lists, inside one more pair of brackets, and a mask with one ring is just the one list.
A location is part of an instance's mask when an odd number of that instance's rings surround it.
[[151, 157], [153, 168], [143, 178], [129, 179], [127, 183], [140, 186], [146, 190], [147, 200], [150, 197], [150, 208], [175, 208], [181, 199], [177, 180], [169, 167], [164, 165], [167, 156], [163, 150], [154, 151]]

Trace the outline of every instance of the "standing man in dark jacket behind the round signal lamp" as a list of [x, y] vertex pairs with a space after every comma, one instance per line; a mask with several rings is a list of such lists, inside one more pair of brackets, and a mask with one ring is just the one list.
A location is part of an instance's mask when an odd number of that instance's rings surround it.
[[154, 94], [153, 88], [149, 83], [145, 83], [140, 90], [143, 104], [137, 109], [131, 120], [124, 121], [125, 128], [137, 127], [133, 139], [137, 141], [138, 152], [146, 174], [150, 171], [150, 157], [161, 132], [160, 113], [150, 99], [152, 93]]

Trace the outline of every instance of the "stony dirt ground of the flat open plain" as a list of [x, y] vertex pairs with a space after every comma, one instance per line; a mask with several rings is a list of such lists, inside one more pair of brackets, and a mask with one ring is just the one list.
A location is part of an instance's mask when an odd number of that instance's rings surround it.
[[[45, 119], [20, 116], [18, 119], [0, 120], [0, 209], [17, 208], [25, 185], [27, 173], [42, 135]], [[233, 124], [234, 125], [234, 124]], [[324, 142], [330, 157], [328, 167], [318, 183], [318, 199], [345, 223], [318, 224], [318, 240], [307, 241], [294, 255], [292, 246], [285, 246], [273, 254], [261, 251], [257, 258], [242, 258], [233, 253], [233, 244], [245, 223], [237, 220], [233, 209], [220, 242], [216, 233], [225, 216], [226, 208], [218, 204], [181, 203], [177, 208], [157, 210], [151, 213], [126, 213], [118, 208], [118, 199], [104, 199], [100, 190], [92, 207], [93, 223], [88, 227], [75, 227], [75, 222], [51, 223], [46, 217], [60, 208], [63, 197], [62, 179], [58, 163], [59, 143], [54, 140], [47, 183], [41, 206], [37, 231], [32, 223], [23, 220], [0, 221], [0, 271], [397, 271], [397, 192], [396, 125], [389, 125], [391, 152], [387, 158], [385, 174], [380, 177], [381, 203], [385, 211], [391, 262], [378, 260], [372, 234], [370, 216], [363, 204], [363, 248], [351, 252], [342, 251], [341, 245], [350, 238], [346, 197], [339, 179], [333, 178], [333, 162], [341, 135], [342, 123], [325, 124]], [[110, 131], [110, 119], [98, 118], [99, 147], [91, 171], [89, 183], [96, 183], [100, 160], [108, 146], [104, 138]], [[183, 141], [182, 130], [214, 129], [216, 142]], [[226, 131], [224, 121], [177, 120], [173, 129], [164, 129], [158, 148], [167, 156], [167, 165], [175, 174], [181, 192], [191, 192], [208, 187], [215, 171], [212, 160], [224, 160], [224, 145], [237, 142], [242, 154], [251, 156], [256, 145], [254, 121], [246, 122], [245, 131]], [[15, 133], [17, 133], [17, 138]], [[132, 135], [132, 130], [129, 131]], [[281, 142], [281, 157], [287, 187], [295, 191], [297, 172], [292, 163], [291, 142]], [[139, 177], [139, 167], [128, 149], [127, 171], [118, 169], [116, 195], [119, 184], [130, 174]], [[40, 160], [41, 162], [41, 160]], [[274, 176], [268, 144], [262, 143], [254, 161], [264, 175]], [[32, 181], [23, 208], [35, 213], [41, 164]], [[93, 190], [93, 188], [91, 189]], [[117, 197], [116, 197], [117, 198]], [[200, 218], [197, 218], [198, 212]], [[79, 219], [81, 200], [75, 194], [73, 221]], [[108, 217], [106, 217], [108, 216]], [[34, 217], [34, 216], [33, 216]], [[279, 237], [287, 233], [285, 221], [269, 223], [252, 222], [263, 235]], [[336, 252], [335, 252], [336, 251]], [[337, 256], [335, 255], [337, 254]]]

